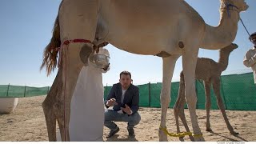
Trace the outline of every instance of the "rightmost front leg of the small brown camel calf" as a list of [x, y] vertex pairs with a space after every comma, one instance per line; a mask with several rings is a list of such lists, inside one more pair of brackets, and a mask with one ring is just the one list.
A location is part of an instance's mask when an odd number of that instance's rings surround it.
[[214, 88], [214, 93], [217, 98], [218, 108], [222, 112], [222, 116], [226, 122], [226, 126], [227, 126], [228, 130], [230, 130], [230, 134], [238, 134], [237, 132], [234, 131], [233, 127], [230, 125], [229, 119], [226, 116], [225, 106], [222, 102], [222, 97], [220, 94], [220, 79], [219, 78], [214, 79], [213, 88]]

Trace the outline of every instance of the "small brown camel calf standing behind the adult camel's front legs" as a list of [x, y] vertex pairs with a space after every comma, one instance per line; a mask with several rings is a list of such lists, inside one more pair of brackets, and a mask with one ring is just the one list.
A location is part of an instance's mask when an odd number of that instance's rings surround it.
[[[206, 131], [212, 131], [210, 128], [210, 86], [213, 85], [214, 93], [217, 98], [218, 107], [222, 112], [222, 116], [226, 122], [226, 126], [228, 130], [230, 130], [230, 134], [238, 134], [234, 132], [233, 127], [230, 125], [228, 118], [226, 117], [225, 107], [222, 102], [222, 97], [220, 94], [220, 78], [222, 71], [226, 70], [229, 62], [230, 53], [237, 49], [238, 45], [232, 43], [230, 46], [226, 46], [219, 50], [219, 59], [218, 62], [214, 62], [214, 60], [210, 58], [198, 58], [197, 66], [195, 69], [195, 79], [200, 79], [204, 82], [205, 92], [206, 92]], [[179, 91], [178, 98], [174, 105], [174, 115], [176, 119], [177, 133], [180, 133], [179, 124], [178, 124], [178, 116], [181, 118], [183, 125], [186, 128], [186, 131], [189, 132], [190, 129], [186, 123], [186, 117], [184, 114], [184, 104], [185, 104], [185, 82], [184, 82], [184, 74], [181, 72], [180, 74], [180, 83], [179, 83]], [[191, 140], [193, 138], [190, 137]]]

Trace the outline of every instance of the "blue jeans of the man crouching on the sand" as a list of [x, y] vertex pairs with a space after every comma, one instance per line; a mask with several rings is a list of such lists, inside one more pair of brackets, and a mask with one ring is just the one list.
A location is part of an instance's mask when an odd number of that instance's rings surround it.
[[104, 126], [108, 127], [110, 130], [115, 130], [117, 125], [114, 122], [128, 122], [127, 128], [134, 128], [135, 125], [138, 125], [140, 120], [141, 116], [138, 112], [128, 116], [128, 114], [119, 114], [114, 110], [105, 110]]

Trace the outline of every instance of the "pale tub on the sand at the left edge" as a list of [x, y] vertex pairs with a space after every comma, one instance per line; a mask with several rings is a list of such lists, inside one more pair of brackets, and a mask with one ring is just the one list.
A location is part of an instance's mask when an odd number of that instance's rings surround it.
[[10, 114], [18, 104], [18, 98], [0, 98], [0, 114]]

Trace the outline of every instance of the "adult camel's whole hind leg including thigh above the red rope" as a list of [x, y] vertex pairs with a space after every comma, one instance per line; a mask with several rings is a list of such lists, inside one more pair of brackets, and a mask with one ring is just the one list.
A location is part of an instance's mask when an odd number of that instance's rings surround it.
[[[86, 10], [86, 11], [85, 11]], [[61, 41], [70, 39], [86, 39], [94, 41], [98, 18], [98, 1], [63, 1], [59, 9], [58, 22], [60, 25]], [[69, 122], [70, 122], [70, 101], [74, 93], [74, 88], [78, 80], [78, 75], [83, 63], [79, 57], [83, 43], [70, 43], [62, 47], [62, 93], [65, 99], [65, 141], [70, 141]], [[91, 49], [90, 44], [85, 44]], [[63, 112], [60, 112], [63, 113]], [[63, 134], [61, 132], [61, 134]]]

